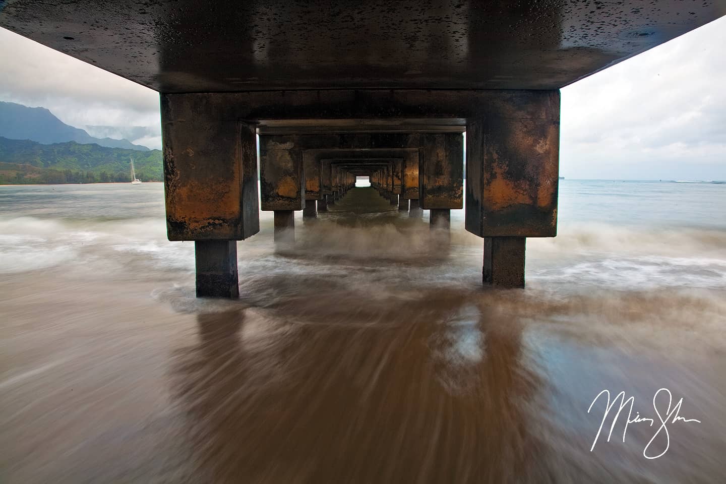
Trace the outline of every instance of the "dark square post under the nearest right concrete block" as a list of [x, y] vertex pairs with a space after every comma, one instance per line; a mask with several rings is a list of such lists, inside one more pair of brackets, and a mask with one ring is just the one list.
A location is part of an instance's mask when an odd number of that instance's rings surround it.
[[525, 237], [484, 237], [484, 284], [524, 287], [525, 245]]

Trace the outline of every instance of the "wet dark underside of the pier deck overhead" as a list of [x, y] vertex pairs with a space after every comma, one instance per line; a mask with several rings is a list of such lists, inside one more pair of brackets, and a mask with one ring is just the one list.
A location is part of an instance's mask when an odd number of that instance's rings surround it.
[[725, 14], [723, 0], [28, 0], [3, 2], [0, 26], [160, 92], [559, 89]]

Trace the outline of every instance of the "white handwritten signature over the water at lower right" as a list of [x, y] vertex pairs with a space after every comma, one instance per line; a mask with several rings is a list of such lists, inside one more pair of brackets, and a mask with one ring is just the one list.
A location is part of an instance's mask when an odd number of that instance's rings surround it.
[[[661, 414], [661, 411], [658, 410], [658, 404], [656, 403], [656, 399], [658, 398], [658, 395], [661, 392], [666, 392], [668, 394], [668, 406], [666, 408], [665, 414]], [[635, 397], [625, 398], [625, 392], [620, 392], [616, 397], [613, 399], [613, 402], [610, 402], [610, 390], [603, 390], [600, 393], [597, 394], [595, 397], [595, 400], [590, 403], [590, 408], [587, 409], [587, 413], [589, 414], [592, 410], [592, 406], [595, 405], [595, 402], [602, 396], [607, 395], [608, 396], [608, 404], [605, 407], [605, 414], [603, 414], [603, 420], [600, 422], [600, 428], [597, 429], [597, 435], [595, 435], [595, 440], [592, 440], [592, 447], [590, 447], [590, 452], [592, 452], [592, 449], [595, 448], [595, 444], [597, 443], [597, 439], [600, 438], [600, 432], [603, 430], [603, 424], [605, 424], [605, 419], [608, 418], [608, 414], [610, 413], [611, 409], [613, 409], [613, 406], [615, 406], [615, 403], [620, 399], [620, 406], [618, 408], [618, 413], [615, 414], [615, 417], [613, 417], [613, 423], [610, 426], [610, 433], [608, 433], [608, 442], [610, 442], [610, 436], [613, 435], [613, 429], [615, 428], [615, 424], [618, 421], [618, 417], [620, 417], [620, 412], [628, 405], [630, 404], [630, 408], [628, 409], [628, 418], [627, 422], [625, 422], [625, 428], [623, 430], [623, 442], [625, 442], [625, 433], [628, 431], [628, 425], [629, 424], [636, 424], [641, 422], [649, 422], [650, 427], [653, 427], [653, 424], [656, 423], [655, 419], [650, 419], [646, 417], [640, 417], [640, 412], [635, 412], [635, 417], [632, 417], [633, 412], [633, 403], [635, 403]], [[656, 430], [655, 435], [653, 435], [653, 438], [648, 440], [648, 444], [646, 444], [645, 448], [643, 449], [643, 456], [645, 459], [658, 459], [658, 457], [662, 456], [668, 451], [668, 448], [671, 445], [670, 435], [668, 433], [668, 427], [666, 427], [666, 424], [674, 424], [678, 421], [681, 422], [698, 422], [701, 423], [701, 420], [696, 419], [685, 419], [683, 417], [680, 417], [678, 413], [680, 412], [680, 407], [683, 403], [683, 398], [681, 397], [678, 403], [676, 403], [673, 406], [673, 409], [671, 409], [671, 405], [673, 403], [673, 396], [671, 395], [671, 390], [668, 390], [667, 388], [661, 388], [656, 392], [655, 395], [653, 395], [653, 410], [656, 411], [656, 414], [658, 415], [658, 420], [660, 421], [660, 427], [658, 427], [658, 430]], [[632, 418], [631, 418], [632, 417]], [[653, 443], [653, 440], [656, 440], [656, 437], [660, 435], [661, 432], [665, 432], [666, 436], [666, 448], [664, 451], [662, 451], [657, 456], [652, 456], [648, 454], [648, 448], [650, 448], [650, 445]]]

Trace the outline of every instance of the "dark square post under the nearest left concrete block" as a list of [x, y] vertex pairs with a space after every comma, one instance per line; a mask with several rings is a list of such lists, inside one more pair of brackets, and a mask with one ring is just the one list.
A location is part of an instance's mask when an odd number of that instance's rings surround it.
[[194, 243], [197, 298], [239, 298], [236, 240]]

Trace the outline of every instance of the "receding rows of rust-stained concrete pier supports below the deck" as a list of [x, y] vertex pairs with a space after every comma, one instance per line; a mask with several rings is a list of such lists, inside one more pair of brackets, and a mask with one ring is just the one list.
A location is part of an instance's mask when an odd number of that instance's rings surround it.
[[335, 205], [357, 169], [391, 205], [430, 210], [435, 227], [465, 201], [484, 284], [523, 287], [526, 237], [557, 231], [559, 109], [558, 91], [162, 94], [168, 239], [195, 241], [197, 295], [233, 298], [236, 241], [258, 233], [258, 207], [293, 242], [295, 210]]

